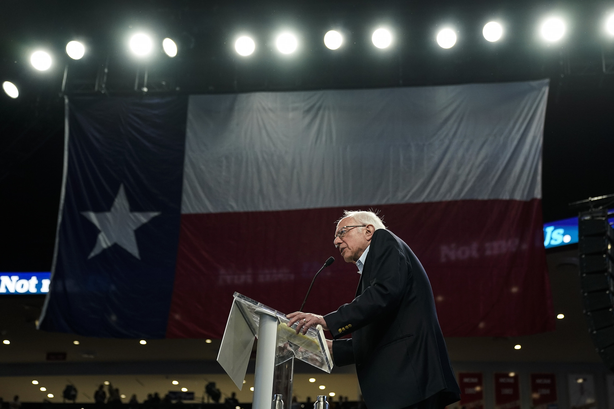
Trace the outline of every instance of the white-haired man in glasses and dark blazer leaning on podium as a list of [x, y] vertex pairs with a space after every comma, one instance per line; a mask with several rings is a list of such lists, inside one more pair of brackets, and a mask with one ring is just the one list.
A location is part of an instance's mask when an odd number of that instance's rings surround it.
[[289, 314], [289, 325], [306, 333], [321, 324], [333, 333], [333, 361], [356, 364], [369, 409], [441, 409], [459, 400], [430, 282], [410, 247], [365, 211], [344, 212], [335, 247], [358, 267], [356, 298], [325, 316]]

